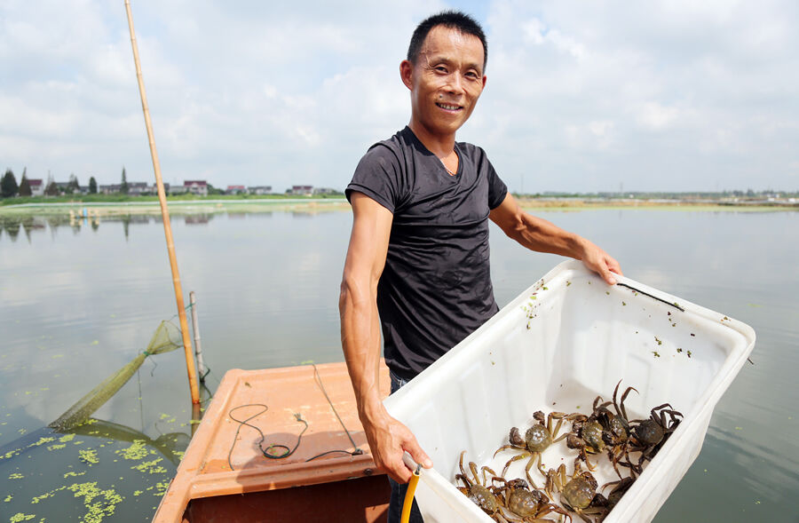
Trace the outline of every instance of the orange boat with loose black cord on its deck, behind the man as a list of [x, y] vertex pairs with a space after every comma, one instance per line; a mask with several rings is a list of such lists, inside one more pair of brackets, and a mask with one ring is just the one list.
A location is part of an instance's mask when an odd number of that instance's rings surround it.
[[[384, 365], [380, 388], [388, 396]], [[265, 456], [295, 447], [290, 456]], [[362, 454], [353, 456], [356, 449]], [[219, 384], [154, 522], [303, 520], [330, 510], [352, 511], [347, 520], [380, 521], [387, 503], [388, 481], [369, 452], [344, 362], [233, 369]], [[322, 505], [327, 509], [320, 511]]]

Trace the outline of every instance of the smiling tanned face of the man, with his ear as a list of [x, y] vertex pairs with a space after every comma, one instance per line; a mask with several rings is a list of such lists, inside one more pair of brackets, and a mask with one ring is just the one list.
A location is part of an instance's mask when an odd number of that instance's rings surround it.
[[415, 64], [400, 64], [411, 91], [412, 122], [434, 135], [455, 134], [469, 119], [486, 85], [483, 44], [443, 26], [432, 28]]

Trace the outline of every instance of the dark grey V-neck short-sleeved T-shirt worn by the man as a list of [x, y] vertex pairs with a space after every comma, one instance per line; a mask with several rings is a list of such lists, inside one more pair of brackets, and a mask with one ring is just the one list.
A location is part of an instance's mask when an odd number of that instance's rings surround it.
[[411, 379], [499, 308], [488, 263], [488, 212], [508, 188], [486, 152], [455, 143], [450, 176], [408, 127], [370, 147], [350, 185], [394, 217], [377, 308], [384, 356]]

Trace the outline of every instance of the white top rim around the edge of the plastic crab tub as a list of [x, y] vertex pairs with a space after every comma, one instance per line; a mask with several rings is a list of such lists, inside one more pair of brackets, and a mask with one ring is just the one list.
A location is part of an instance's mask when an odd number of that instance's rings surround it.
[[[599, 283], [596, 286], [596, 292], [604, 292], [605, 288], [599, 277], [590, 273], [581, 262], [569, 260], [557, 265], [549, 273], [544, 275], [541, 280], [536, 281], [534, 285], [519, 294], [510, 304], [504, 306], [499, 313], [496, 313], [494, 317], [487, 321], [482, 327], [463, 339], [460, 344], [455, 345], [455, 347], [442, 356], [439, 361], [433, 363], [410, 383], [387, 398], [384, 401], [386, 408], [392, 416], [397, 418], [400, 422], [406, 423], [406, 420], [412, 417], [411, 414], [415, 406], [418, 405], [418, 401], [430, 397], [431, 390], [439, 385], [439, 376], [442, 373], [446, 374], [447, 371], [445, 369], [457, 367], [459, 362], [463, 364], [465, 361], [469, 361], [472, 355], [471, 353], [482, 350], [475, 341], [478, 340], [479, 337], [484, 336], [491, 329], [500, 328], [502, 322], [510, 320], [511, 315], [517, 315], [519, 307], [529, 300], [530, 295], [534, 293], [536, 289], [542, 289], [544, 282], [550, 288], [557, 288], [560, 285], [567, 285], [569, 279], [587, 277], [589, 275], [596, 278], [597, 283]], [[755, 345], [755, 331], [745, 323], [730, 319], [723, 314], [685, 301], [682, 298], [672, 296], [661, 290], [653, 289], [644, 283], [633, 281], [624, 276], [617, 276], [616, 279], [619, 283], [624, 283], [636, 289], [640, 289], [653, 297], [659, 298], [665, 303], [677, 304], [684, 309], [684, 313], [691, 314], [695, 318], [704, 321], [718, 322], [725, 328], [732, 329], [732, 331], [738, 333], [739, 337], [737, 337], [738, 341], [735, 343], [735, 346], [727, 353], [727, 357], [716, 373], [716, 376], [708, 384], [705, 391], [702, 392], [694, 407], [684, 412], [683, 423], [681, 423], [676, 432], [671, 435], [667, 444], [661, 448], [661, 451], [653, 458], [649, 466], [645, 468], [645, 471], [639, 476], [635, 484], [630, 487], [627, 494], [622, 497], [621, 502], [616, 505], [609, 517], [605, 519], [607, 523], [636, 519], [635, 516], [639, 504], [645, 502], [643, 498], [645, 498], [648, 493], [652, 492], [654, 486], [661, 481], [661, 475], [664, 473], [663, 471], [666, 471], [666, 473], [678, 473], [679, 478], [682, 478], [685, 470], [674, 469], [678, 458], [683, 456], [686, 451], [692, 452], [694, 458], [699, 453], [701, 442], [707, 432], [709, 419], [716, 403], [727, 387], [732, 383], [732, 380], [738, 374], [740, 368], [745, 364], [748, 354], [751, 353]], [[538, 297], [537, 303], [543, 304], [546, 303], [546, 300], [547, 296], [544, 294]], [[677, 469], [681, 468], [687, 469], [687, 465], [684, 467], [677, 467]], [[677, 480], [679, 478], [677, 478]], [[487, 523], [492, 520], [474, 503], [471, 503], [468, 498], [460, 494], [460, 492], [458, 492], [439, 471], [436, 471], [435, 468], [423, 471], [420, 487], [422, 484], [431, 488], [436, 495], [439, 495], [441, 498], [440, 501], [446, 502], [449, 508], [455, 511], [461, 518], [469, 521], [484, 521]], [[654, 510], [657, 508], [658, 507], [655, 507]]]

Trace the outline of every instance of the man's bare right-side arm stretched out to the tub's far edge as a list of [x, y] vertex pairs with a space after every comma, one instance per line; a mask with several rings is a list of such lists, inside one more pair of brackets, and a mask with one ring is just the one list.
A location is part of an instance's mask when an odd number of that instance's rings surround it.
[[550, 252], [579, 259], [610, 285], [616, 283], [613, 273], [621, 274], [621, 266], [613, 257], [578, 234], [569, 233], [549, 221], [536, 218], [518, 207], [513, 196], [505, 196], [489, 217], [510, 238], [527, 249]]

